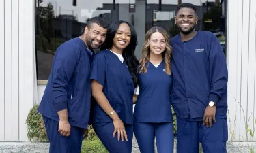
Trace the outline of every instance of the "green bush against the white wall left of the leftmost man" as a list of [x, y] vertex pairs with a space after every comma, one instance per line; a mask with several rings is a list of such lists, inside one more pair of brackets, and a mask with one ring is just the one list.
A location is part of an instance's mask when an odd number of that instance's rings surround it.
[[34, 105], [27, 116], [27, 137], [29, 141], [48, 141], [42, 114], [38, 112], [38, 106]]

